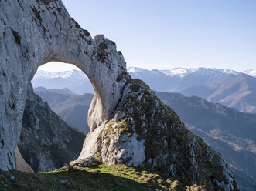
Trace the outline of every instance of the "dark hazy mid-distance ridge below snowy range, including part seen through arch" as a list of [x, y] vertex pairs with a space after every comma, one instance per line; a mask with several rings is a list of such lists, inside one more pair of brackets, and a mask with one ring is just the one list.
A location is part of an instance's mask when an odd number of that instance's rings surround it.
[[[84, 129], [84, 124], [87, 124], [84, 116], [87, 116], [92, 94], [68, 95], [66, 91], [60, 93], [50, 89], [35, 92], [49, 102], [53, 111], [60, 114], [69, 125], [77, 124], [76, 127], [83, 132], [89, 131], [88, 127]], [[254, 190], [256, 114], [238, 112], [196, 96], [185, 97], [180, 93], [169, 92], [155, 94], [177, 112], [189, 130], [203, 137], [204, 142], [222, 153], [232, 166], [241, 190]]]

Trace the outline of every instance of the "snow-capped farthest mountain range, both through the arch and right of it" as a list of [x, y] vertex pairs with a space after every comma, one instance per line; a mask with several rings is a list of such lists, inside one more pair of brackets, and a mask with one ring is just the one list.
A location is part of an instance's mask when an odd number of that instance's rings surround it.
[[[128, 72], [132, 78], [142, 79], [155, 91], [196, 95], [241, 112], [256, 113], [256, 69], [236, 72], [207, 68], [148, 70], [128, 67]], [[79, 95], [94, 93], [90, 80], [76, 69], [66, 72], [38, 71], [32, 85], [47, 89], [68, 88]]]

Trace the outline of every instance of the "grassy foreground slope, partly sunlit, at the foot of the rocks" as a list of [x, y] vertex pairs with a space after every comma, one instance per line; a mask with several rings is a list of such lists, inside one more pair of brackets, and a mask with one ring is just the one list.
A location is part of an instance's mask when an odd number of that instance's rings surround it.
[[0, 190], [185, 190], [185, 187], [167, 174], [94, 163], [90, 168], [64, 168], [49, 173], [0, 171]]

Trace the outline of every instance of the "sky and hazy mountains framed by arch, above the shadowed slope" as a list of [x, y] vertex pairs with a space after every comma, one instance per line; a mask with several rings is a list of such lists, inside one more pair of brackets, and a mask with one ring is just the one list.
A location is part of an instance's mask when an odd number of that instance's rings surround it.
[[88, 109], [94, 88], [80, 69], [62, 62], [49, 62], [40, 66], [32, 79], [34, 92], [48, 102], [69, 126], [88, 133]]

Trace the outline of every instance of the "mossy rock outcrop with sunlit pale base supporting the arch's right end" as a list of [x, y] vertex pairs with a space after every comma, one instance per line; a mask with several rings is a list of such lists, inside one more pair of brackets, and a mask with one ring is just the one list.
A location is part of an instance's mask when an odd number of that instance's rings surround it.
[[163, 104], [148, 85], [127, 81], [110, 121], [90, 131], [83, 151], [71, 165], [94, 156], [109, 165], [154, 167], [186, 186], [236, 190], [227, 162], [186, 129], [179, 116]]

